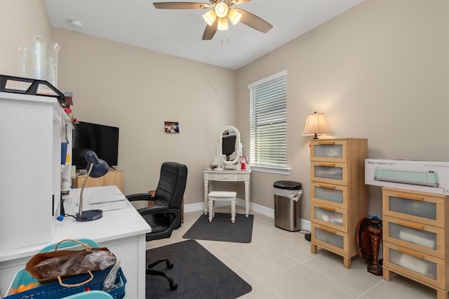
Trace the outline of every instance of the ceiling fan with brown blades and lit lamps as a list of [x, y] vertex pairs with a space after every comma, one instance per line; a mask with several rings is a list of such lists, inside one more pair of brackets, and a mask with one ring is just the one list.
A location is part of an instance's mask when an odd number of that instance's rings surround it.
[[203, 33], [203, 40], [209, 40], [213, 38], [217, 30], [227, 30], [229, 28], [228, 18], [232, 25], [236, 25], [240, 21], [263, 33], [267, 33], [269, 29], [272, 29], [273, 25], [257, 17], [257, 15], [243, 11], [240, 8], [232, 8], [234, 4], [238, 5], [249, 1], [251, 0], [209, 0], [209, 3], [156, 2], [153, 5], [158, 9], [209, 9], [203, 15], [203, 19], [207, 23]]

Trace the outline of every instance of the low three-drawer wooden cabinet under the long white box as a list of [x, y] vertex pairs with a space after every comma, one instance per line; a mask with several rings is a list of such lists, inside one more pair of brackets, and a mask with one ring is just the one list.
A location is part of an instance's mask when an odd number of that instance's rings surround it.
[[383, 277], [401, 274], [448, 298], [449, 196], [382, 188]]

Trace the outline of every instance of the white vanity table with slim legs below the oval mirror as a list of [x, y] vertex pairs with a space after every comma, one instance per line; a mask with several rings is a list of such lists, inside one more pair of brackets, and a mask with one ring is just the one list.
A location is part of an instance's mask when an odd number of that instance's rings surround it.
[[203, 171], [204, 178], [204, 213], [208, 213], [208, 193], [209, 181], [210, 190], [213, 189], [212, 181], [222, 182], [244, 182], [245, 183], [245, 215], [248, 217], [250, 213], [250, 181], [251, 171], [214, 171], [207, 169]]

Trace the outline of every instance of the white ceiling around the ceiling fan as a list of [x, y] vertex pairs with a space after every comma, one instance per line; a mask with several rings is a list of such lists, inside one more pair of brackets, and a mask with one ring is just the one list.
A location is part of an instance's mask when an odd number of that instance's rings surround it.
[[[229, 23], [228, 32], [217, 31], [210, 41], [201, 40], [207, 9], [154, 8], [153, 2], [163, 1], [45, 0], [45, 4], [54, 27], [238, 69], [364, 0], [252, 0], [234, 7], [272, 24], [269, 32]], [[73, 27], [72, 19], [83, 27]]]

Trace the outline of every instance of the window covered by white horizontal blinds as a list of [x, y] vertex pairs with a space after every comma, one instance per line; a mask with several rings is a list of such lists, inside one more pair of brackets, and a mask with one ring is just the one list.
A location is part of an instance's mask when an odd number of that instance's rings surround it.
[[[287, 168], [287, 72], [248, 85], [250, 165], [277, 173]], [[260, 167], [260, 168], [259, 168]]]

